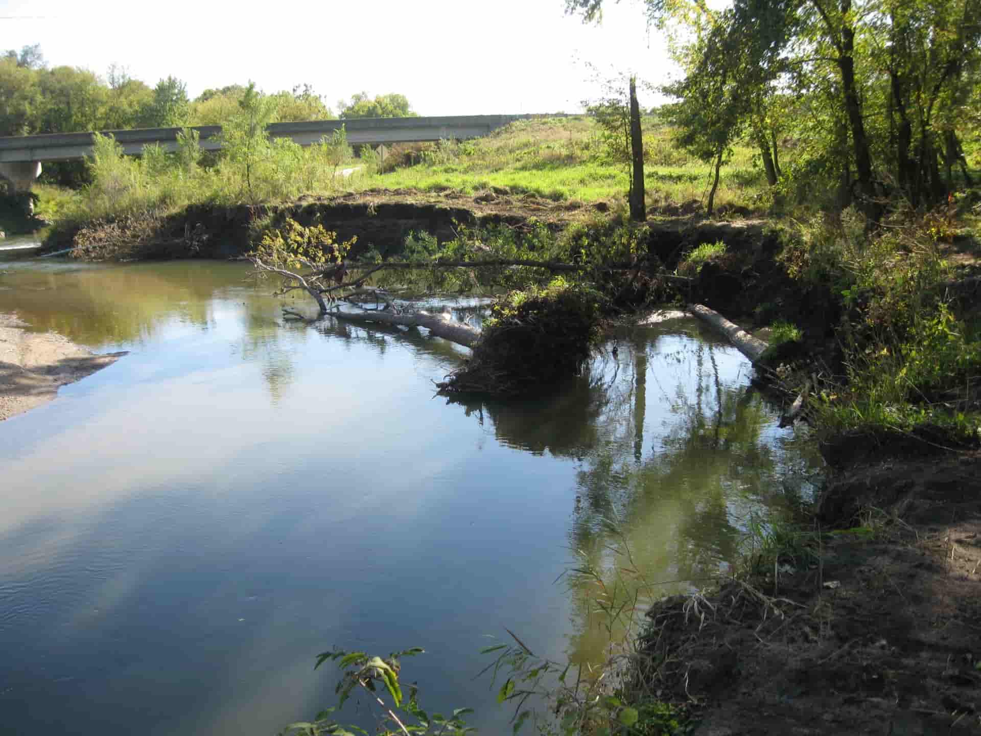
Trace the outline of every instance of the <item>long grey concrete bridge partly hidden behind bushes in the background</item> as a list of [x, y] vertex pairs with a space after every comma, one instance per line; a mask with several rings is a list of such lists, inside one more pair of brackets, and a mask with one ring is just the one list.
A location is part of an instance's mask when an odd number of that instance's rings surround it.
[[[441, 118], [366, 118], [360, 120], [318, 120], [306, 123], [274, 123], [267, 131], [276, 138], [292, 138], [300, 145], [320, 142], [344, 127], [347, 142], [354, 146], [381, 143], [415, 143], [440, 138], [475, 138], [516, 120], [536, 115], [465, 115]], [[221, 126], [193, 126], [206, 151], [222, 147]], [[159, 143], [164, 150], [178, 147], [180, 128], [149, 128], [138, 131], [102, 131], [111, 134], [130, 155], [142, 153], [143, 146]], [[40, 176], [44, 161], [72, 161], [92, 152], [92, 132], [65, 132], [45, 135], [0, 137], [0, 177], [16, 191], [26, 191]]]

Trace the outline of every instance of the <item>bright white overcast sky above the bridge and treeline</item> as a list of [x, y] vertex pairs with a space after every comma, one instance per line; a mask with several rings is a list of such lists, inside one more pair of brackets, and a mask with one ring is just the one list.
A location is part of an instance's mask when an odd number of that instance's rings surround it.
[[404, 94], [421, 115], [576, 112], [598, 78], [672, 70], [643, 3], [606, 4], [588, 26], [564, 0], [0, 0], [0, 49], [40, 43], [49, 66], [116, 64], [151, 86], [173, 75], [191, 97], [251, 79], [309, 83], [335, 110], [366, 91]]

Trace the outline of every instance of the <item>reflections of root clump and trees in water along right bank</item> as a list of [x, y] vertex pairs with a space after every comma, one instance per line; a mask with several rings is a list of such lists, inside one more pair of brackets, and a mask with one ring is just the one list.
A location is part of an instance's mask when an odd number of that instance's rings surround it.
[[[618, 580], [625, 599], [688, 590], [735, 559], [750, 513], [805, 495], [801, 477], [780, 485], [794, 441], [769, 432], [773, 412], [746, 387], [745, 361], [669, 329], [620, 340], [616, 358], [604, 352], [547, 396], [452, 399], [490, 418], [503, 444], [581, 461], [570, 546], [598, 576], [567, 576], [574, 661], [601, 658], [610, 641], [597, 594]], [[679, 582], [651, 591], [624, 572], [625, 547], [647, 583]]]

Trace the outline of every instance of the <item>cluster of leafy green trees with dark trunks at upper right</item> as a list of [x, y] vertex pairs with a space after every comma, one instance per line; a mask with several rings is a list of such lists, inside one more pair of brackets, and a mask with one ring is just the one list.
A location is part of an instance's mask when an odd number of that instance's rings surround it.
[[[929, 207], [953, 184], [957, 131], [969, 125], [964, 110], [981, 64], [981, 0], [735, 0], [722, 13], [702, 0], [645, 0], [645, 7], [655, 25], [685, 28], [676, 48], [695, 79], [674, 91], [690, 96], [693, 115], [699, 100], [732, 103], [715, 120], [690, 124], [707, 134], [749, 121], [771, 182], [777, 162], [771, 172], [764, 143], [772, 155], [775, 135], [771, 129], [767, 141], [766, 121], [782, 87], [825, 121], [808, 145], [825, 146], [824, 158], [845, 153], [843, 184], [856, 190], [870, 221], [881, 216], [885, 194]], [[566, 9], [597, 20], [602, 0], [567, 0]], [[741, 94], [723, 94], [723, 79]], [[712, 135], [718, 142], [722, 132]]]

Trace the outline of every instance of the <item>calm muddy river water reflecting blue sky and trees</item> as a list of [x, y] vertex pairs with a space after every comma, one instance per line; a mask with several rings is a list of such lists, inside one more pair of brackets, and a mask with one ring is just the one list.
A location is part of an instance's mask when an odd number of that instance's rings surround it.
[[0, 312], [130, 351], [0, 423], [0, 734], [275, 733], [332, 704], [335, 645], [425, 648], [423, 705], [502, 731], [488, 635], [601, 657], [623, 552], [628, 595], [688, 590], [811, 493], [806, 444], [692, 321], [548, 396], [446, 401], [461, 350], [281, 324], [245, 276], [0, 261]]

